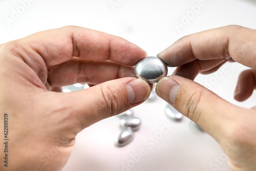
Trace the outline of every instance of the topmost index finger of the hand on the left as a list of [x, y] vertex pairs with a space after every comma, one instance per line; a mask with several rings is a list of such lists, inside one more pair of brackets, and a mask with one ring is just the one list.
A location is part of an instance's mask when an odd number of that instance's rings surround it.
[[47, 66], [58, 65], [73, 56], [133, 66], [146, 57], [145, 51], [121, 37], [77, 26], [42, 31], [22, 40], [29, 56], [39, 53]]

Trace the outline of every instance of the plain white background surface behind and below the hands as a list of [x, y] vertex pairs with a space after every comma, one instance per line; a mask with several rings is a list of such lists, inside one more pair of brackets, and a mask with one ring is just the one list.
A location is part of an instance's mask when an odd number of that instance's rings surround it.
[[[110, 2], [118, 5], [111, 6]], [[77, 25], [121, 36], [140, 46], [148, 56], [156, 56], [187, 34], [226, 25], [256, 29], [256, 1], [253, 0], [205, 0], [204, 7], [177, 29], [175, 23], [182, 24], [182, 16], [191, 14], [191, 6], [199, 2], [34, 0], [24, 8], [20, 1], [0, 0], [0, 44], [42, 30]], [[13, 15], [14, 11], [19, 14]], [[234, 63], [223, 67], [215, 74], [199, 75], [196, 81], [233, 104], [251, 108], [255, 95], [242, 103], [233, 100], [238, 75], [246, 67]], [[169, 68], [169, 74], [172, 71]], [[197, 130], [188, 119], [180, 123], [169, 120], [164, 114], [165, 106], [160, 98], [137, 106], [134, 112], [142, 119], [141, 129], [129, 145], [121, 148], [114, 146], [120, 133], [118, 117], [83, 130], [63, 170], [230, 170], [214, 139]], [[157, 142], [148, 141], [150, 136], [159, 136], [163, 123], [167, 122], [173, 125], [172, 129], [158, 137]], [[133, 159], [141, 149], [144, 155]]]

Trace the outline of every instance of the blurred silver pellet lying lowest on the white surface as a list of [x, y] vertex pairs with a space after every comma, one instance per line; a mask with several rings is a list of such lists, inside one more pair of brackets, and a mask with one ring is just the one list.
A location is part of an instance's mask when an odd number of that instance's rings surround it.
[[124, 146], [132, 141], [134, 133], [131, 129], [125, 129], [121, 132], [119, 137], [116, 140], [117, 146]]

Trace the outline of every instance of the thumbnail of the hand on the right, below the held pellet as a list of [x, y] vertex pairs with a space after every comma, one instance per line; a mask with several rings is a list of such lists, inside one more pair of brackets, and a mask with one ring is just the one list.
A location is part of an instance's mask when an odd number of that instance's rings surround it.
[[160, 79], [156, 86], [156, 93], [165, 101], [174, 104], [177, 92], [180, 88], [178, 82], [169, 77]]

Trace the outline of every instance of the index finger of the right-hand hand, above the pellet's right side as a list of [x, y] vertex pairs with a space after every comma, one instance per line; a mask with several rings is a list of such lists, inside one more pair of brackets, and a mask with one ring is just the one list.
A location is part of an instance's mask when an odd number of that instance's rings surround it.
[[169, 67], [193, 60], [231, 57], [245, 66], [256, 67], [256, 30], [225, 26], [182, 37], [158, 54]]

